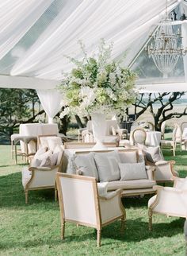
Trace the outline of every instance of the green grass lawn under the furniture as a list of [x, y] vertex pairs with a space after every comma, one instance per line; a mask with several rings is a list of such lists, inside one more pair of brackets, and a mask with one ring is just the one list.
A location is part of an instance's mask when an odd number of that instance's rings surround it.
[[[176, 161], [180, 176], [187, 176], [187, 151], [178, 150], [177, 157], [169, 150], [164, 154]], [[101, 248], [96, 246], [94, 229], [71, 223], [67, 223], [62, 241], [53, 190], [29, 192], [29, 204], [25, 205], [23, 166], [11, 160], [10, 145], [0, 145], [0, 255], [185, 255], [185, 219], [154, 215], [153, 231], [148, 230], [150, 196], [123, 200], [126, 230], [120, 234], [119, 221], [104, 227]]]

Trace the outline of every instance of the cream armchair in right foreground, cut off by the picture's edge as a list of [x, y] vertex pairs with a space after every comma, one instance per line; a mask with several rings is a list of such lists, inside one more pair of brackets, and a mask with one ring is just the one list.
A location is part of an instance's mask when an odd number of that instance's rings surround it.
[[149, 229], [152, 230], [152, 215], [187, 218], [187, 178], [174, 178], [174, 187], [155, 186], [157, 194], [148, 201]]

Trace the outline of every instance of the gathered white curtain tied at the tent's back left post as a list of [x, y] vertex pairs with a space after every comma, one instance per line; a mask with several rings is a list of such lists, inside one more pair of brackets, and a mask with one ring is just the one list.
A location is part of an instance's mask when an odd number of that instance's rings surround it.
[[48, 114], [48, 122], [52, 123], [55, 114], [60, 111], [60, 95], [56, 90], [37, 90], [37, 95], [44, 111]]

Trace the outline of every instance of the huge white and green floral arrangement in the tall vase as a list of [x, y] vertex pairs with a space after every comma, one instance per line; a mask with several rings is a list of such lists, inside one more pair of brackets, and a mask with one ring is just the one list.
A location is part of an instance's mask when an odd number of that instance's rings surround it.
[[76, 68], [64, 73], [59, 85], [63, 112], [86, 116], [93, 112], [123, 114], [135, 102], [135, 72], [122, 68], [120, 61], [111, 60], [113, 45], [101, 40], [97, 55], [88, 56], [80, 41], [82, 60], [68, 57]]

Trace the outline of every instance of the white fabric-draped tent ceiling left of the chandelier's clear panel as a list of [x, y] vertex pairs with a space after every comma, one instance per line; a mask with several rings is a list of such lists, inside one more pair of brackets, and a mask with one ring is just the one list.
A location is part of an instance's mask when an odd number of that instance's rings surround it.
[[[179, 3], [187, 8], [184, 0], [170, 0], [169, 11]], [[101, 38], [113, 41], [113, 58], [126, 52], [128, 65], [164, 16], [165, 5], [163, 0], [4, 0], [0, 87], [54, 88], [72, 68], [65, 55], [81, 58], [78, 40], [88, 52]]]

